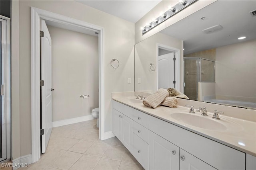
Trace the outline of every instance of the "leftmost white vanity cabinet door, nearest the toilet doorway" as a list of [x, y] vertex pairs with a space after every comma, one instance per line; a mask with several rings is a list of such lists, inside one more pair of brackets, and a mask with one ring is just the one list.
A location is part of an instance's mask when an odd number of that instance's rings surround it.
[[112, 109], [112, 132], [121, 141], [121, 116], [122, 113]]

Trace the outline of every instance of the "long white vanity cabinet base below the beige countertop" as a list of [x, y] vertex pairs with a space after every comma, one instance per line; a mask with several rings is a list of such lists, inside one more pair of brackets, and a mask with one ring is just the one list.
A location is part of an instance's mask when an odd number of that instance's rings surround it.
[[[112, 101], [112, 131], [145, 169], [249, 170], [253, 156]], [[246, 166], [246, 160], [251, 162]]]

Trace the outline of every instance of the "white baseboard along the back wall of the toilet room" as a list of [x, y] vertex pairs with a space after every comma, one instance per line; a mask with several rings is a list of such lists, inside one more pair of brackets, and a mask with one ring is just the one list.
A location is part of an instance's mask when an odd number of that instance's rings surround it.
[[75, 118], [71, 118], [71, 119], [54, 121], [54, 122], [52, 122], [52, 127], [70, 125], [73, 123], [79, 123], [82, 121], [88, 121], [88, 120], [92, 120], [92, 119], [94, 119], [94, 117], [92, 117], [92, 115], [87, 115], [87, 116], [75, 117]]

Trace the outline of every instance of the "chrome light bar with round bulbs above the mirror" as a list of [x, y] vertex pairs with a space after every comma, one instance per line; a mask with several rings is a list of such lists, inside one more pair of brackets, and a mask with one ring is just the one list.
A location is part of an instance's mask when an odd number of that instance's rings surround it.
[[153, 29], [160, 23], [164, 22], [168, 18], [171, 18], [173, 15], [177, 14], [178, 12], [182, 11], [184, 8], [190, 6], [193, 2], [197, 0], [180, 0], [178, 4], [172, 6], [168, 11], [161, 14], [158, 18], [151, 21], [150, 23], [146, 24], [146, 26], [142, 27], [142, 35], [144, 35], [149, 30]]

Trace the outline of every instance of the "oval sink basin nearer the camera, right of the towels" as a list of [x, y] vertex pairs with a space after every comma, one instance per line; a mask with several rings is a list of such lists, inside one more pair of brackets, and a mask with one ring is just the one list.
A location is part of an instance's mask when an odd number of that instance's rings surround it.
[[220, 120], [212, 119], [212, 115], [201, 116], [191, 113], [172, 113], [171, 117], [182, 123], [212, 131], [239, 131], [242, 129], [240, 125], [232, 121], [222, 118]]

